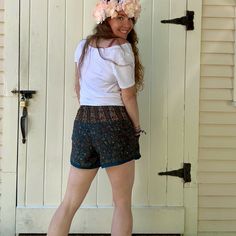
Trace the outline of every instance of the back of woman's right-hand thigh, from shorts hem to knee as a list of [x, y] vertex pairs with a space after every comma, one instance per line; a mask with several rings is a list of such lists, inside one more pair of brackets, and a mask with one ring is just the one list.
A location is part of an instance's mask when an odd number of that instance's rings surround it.
[[135, 176], [135, 160], [106, 168], [115, 205], [131, 204]]

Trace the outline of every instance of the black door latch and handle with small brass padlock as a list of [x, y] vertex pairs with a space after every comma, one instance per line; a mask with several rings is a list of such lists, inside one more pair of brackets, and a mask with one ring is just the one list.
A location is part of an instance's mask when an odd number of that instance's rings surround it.
[[28, 111], [27, 106], [29, 104], [28, 100], [33, 97], [33, 94], [36, 93], [35, 90], [12, 90], [14, 94], [21, 94], [20, 98], [20, 107], [22, 107], [22, 116], [20, 118], [20, 127], [22, 134], [22, 143], [26, 143], [27, 135], [27, 124], [28, 124]]

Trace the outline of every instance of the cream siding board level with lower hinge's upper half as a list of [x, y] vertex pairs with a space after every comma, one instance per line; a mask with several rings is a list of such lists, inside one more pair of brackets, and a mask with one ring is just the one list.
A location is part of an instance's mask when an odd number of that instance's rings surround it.
[[[233, 138], [232, 138], [233, 139]], [[198, 165], [200, 172], [236, 172], [235, 161], [208, 161], [201, 160]]]

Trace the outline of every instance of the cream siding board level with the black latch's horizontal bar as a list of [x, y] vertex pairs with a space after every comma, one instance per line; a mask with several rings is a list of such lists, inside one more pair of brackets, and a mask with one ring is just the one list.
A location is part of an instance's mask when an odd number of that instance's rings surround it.
[[201, 89], [201, 100], [227, 100], [232, 101], [231, 89]]

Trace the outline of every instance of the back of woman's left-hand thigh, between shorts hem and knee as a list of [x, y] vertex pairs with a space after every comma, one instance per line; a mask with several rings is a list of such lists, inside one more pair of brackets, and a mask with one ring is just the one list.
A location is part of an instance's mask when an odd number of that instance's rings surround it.
[[78, 208], [83, 202], [97, 171], [98, 168], [79, 169], [71, 166], [63, 204], [73, 210]]

